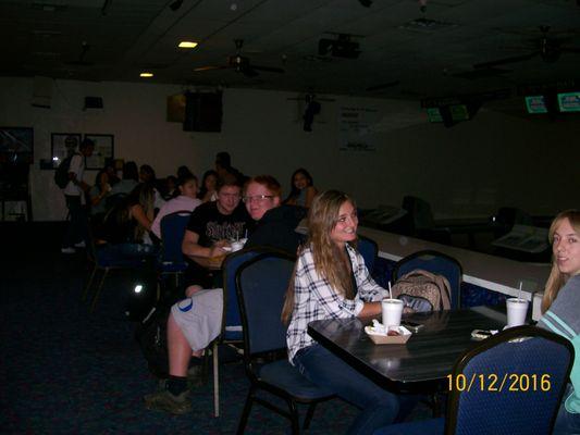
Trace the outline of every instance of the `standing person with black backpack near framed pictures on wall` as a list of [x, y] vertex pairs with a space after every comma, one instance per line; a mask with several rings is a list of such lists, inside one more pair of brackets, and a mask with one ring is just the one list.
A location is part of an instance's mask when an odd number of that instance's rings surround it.
[[95, 142], [90, 139], [84, 139], [78, 146], [78, 151], [71, 159], [69, 166], [69, 184], [64, 187], [64, 199], [69, 209], [71, 222], [64, 234], [62, 243], [62, 253], [74, 253], [76, 248], [84, 248], [87, 238], [87, 211], [85, 191], [90, 186], [83, 181], [85, 172], [85, 159], [92, 154]]

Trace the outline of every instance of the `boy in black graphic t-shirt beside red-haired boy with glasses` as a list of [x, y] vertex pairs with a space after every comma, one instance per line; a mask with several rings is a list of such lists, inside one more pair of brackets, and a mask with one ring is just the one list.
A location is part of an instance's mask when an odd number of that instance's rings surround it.
[[229, 240], [244, 237], [254, 223], [240, 203], [242, 186], [236, 178], [221, 178], [217, 191], [215, 201], [194, 210], [182, 244], [183, 253], [192, 260], [186, 279], [203, 288], [220, 286], [213, 282], [211, 270], [220, 269], [227, 253], [223, 248], [230, 245]]

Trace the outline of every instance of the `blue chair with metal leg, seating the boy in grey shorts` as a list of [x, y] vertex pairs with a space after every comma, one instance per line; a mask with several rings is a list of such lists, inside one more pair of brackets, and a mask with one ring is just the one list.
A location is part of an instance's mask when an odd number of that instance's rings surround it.
[[222, 332], [213, 340], [213, 414], [220, 417], [220, 361], [218, 347], [220, 344], [240, 344], [244, 336], [242, 333], [242, 320], [239, 316], [239, 306], [236, 294], [236, 272], [238, 268], [251, 260], [263, 248], [254, 247], [230, 253], [222, 265], [223, 274], [223, 315]]

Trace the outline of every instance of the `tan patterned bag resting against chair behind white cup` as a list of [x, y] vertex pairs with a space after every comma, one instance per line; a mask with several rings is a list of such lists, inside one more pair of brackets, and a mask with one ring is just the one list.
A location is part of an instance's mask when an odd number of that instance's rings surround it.
[[[445, 276], [416, 269], [397, 279], [393, 297], [405, 302], [410, 312], [451, 309], [451, 286]], [[407, 311], [406, 311], [407, 312]]]

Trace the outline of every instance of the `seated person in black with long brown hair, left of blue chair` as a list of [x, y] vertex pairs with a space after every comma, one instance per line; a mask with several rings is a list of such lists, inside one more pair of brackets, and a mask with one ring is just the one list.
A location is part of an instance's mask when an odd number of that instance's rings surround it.
[[158, 249], [148, 234], [153, 219], [153, 188], [141, 184], [109, 210], [95, 231], [99, 256], [115, 261], [155, 256]]

